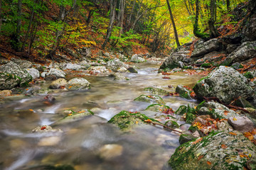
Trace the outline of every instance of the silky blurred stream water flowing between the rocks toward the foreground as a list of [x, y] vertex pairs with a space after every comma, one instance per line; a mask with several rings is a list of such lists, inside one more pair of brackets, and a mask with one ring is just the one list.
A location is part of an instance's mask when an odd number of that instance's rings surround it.
[[[76, 170], [162, 169], [179, 145], [178, 134], [153, 125], [122, 132], [107, 121], [120, 111], [143, 111], [149, 106], [133, 101], [141, 94], [150, 94], [143, 90], [145, 87], [193, 87], [201, 77], [175, 73], [171, 79], [162, 79], [164, 76], [157, 74], [159, 64], [144, 63], [137, 67], [138, 74], [124, 74], [129, 81], [88, 76], [85, 79], [92, 84], [90, 90], [53, 91], [53, 104], [43, 102], [43, 94], [5, 99], [0, 104], [0, 169], [43, 169], [49, 164], [70, 164]], [[196, 102], [174, 96], [164, 97], [164, 101], [174, 111]], [[63, 132], [32, 132], [39, 125], [52, 125], [63, 118], [67, 115], [65, 110], [85, 108], [92, 109], [95, 115], [59, 125]]]

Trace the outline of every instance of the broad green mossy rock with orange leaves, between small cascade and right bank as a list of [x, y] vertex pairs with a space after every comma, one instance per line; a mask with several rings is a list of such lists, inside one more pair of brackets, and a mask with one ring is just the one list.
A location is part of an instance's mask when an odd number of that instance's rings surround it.
[[143, 125], [147, 124], [144, 120], [151, 120], [152, 123], [159, 123], [159, 121], [152, 118], [148, 118], [142, 113], [129, 113], [129, 111], [121, 111], [117, 115], [114, 115], [108, 123], [117, 125], [122, 130], [128, 130], [134, 125]]

